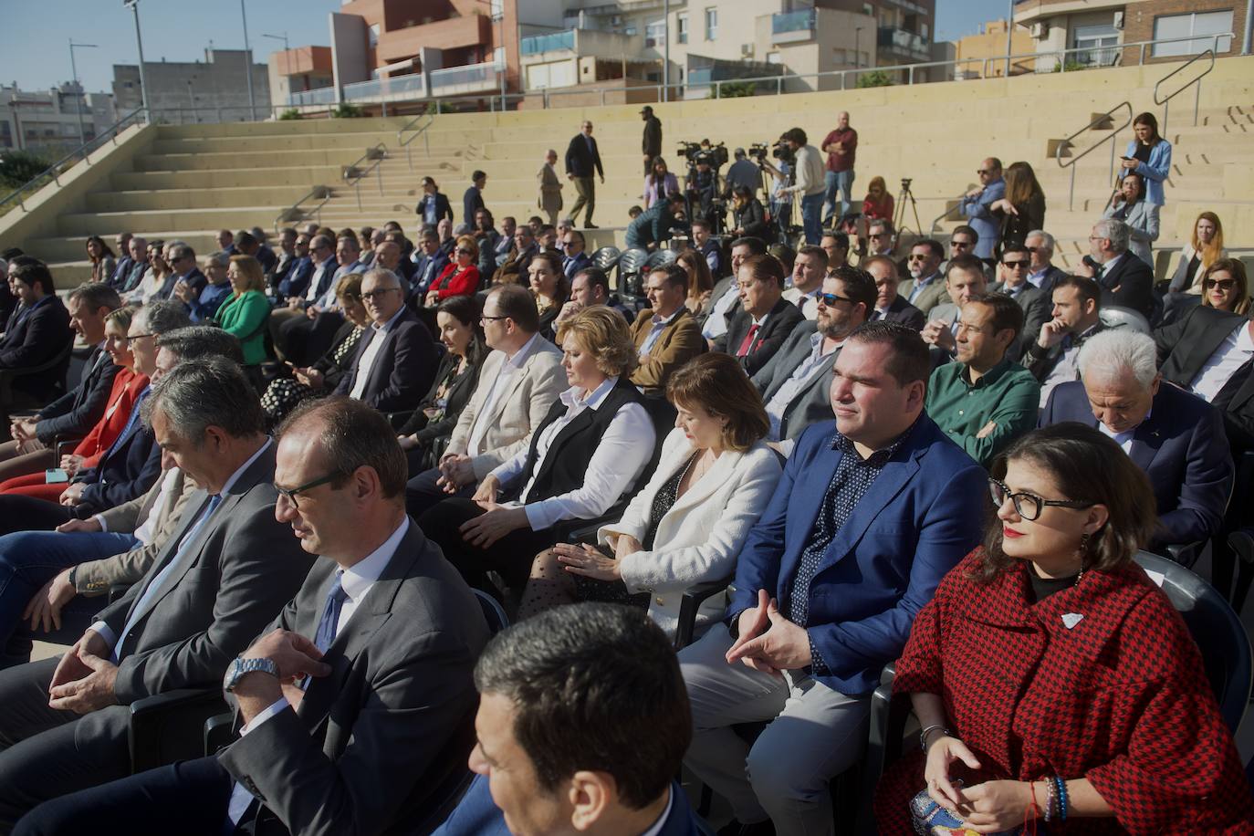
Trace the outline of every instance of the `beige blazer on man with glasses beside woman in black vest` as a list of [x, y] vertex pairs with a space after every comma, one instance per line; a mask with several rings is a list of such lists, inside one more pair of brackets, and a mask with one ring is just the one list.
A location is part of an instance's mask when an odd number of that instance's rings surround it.
[[[453, 429], [453, 437], [445, 452], [465, 455], [475, 416], [483, 409], [504, 363], [503, 351], [493, 351], [483, 361], [479, 382], [458, 417], [458, 425]], [[493, 405], [492, 415], [485, 416], [488, 429], [483, 436], [482, 450], [470, 460], [475, 480], [483, 479], [497, 465], [525, 449], [532, 442], [532, 430], [544, 421], [553, 401], [567, 389], [562, 352], [544, 337], [538, 337], [519, 374], [510, 380], [509, 391], [500, 392]]]

